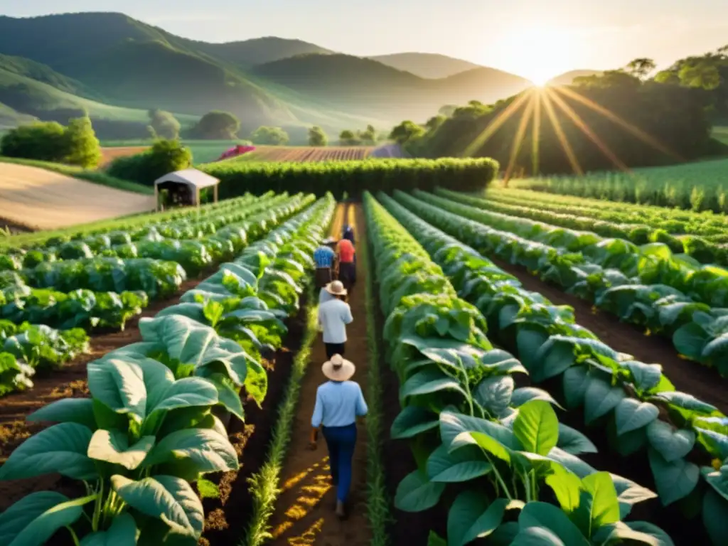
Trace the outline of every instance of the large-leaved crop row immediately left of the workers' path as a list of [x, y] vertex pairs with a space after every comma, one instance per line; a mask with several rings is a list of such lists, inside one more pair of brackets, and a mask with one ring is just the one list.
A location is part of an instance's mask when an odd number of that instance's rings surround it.
[[141, 320], [143, 341], [88, 365], [91, 398], [28, 417], [58, 424], [15, 449], [0, 479], [58, 472], [87, 494], [25, 496], [0, 515], [7, 542], [41, 545], [66, 528], [76, 544], [197, 543], [205, 515], [191, 484], [237, 470], [223, 420], [242, 419], [243, 389], [257, 403], [266, 395], [261, 350], [280, 344], [333, 206], [320, 199], [172, 311]]

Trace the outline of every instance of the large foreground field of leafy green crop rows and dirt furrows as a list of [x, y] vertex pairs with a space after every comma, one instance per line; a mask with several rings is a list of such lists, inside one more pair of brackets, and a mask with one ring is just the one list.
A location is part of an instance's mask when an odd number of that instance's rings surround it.
[[[9, 238], [0, 535], [728, 544], [721, 218], [389, 189]], [[311, 256], [344, 223], [347, 355], [369, 413], [339, 523], [323, 440], [307, 447], [325, 359]]]

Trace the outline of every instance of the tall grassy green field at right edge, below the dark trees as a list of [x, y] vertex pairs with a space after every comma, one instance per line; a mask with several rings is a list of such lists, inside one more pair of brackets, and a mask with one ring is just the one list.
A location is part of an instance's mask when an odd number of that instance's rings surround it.
[[728, 159], [713, 159], [636, 169], [633, 173], [526, 178], [510, 181], [509, 186], [576, 197], [728, 213], [727, 171]]

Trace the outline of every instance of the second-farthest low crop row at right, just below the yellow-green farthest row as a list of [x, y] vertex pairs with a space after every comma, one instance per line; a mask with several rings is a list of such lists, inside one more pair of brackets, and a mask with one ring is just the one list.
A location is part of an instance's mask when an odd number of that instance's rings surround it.
[[[646, 245], [649, 242], [662, 242], [668, 245], [673, 253], [687, 254], [687, 256], [695, 258], [703, 264], [728, 264], [728, 251], [713, 244], [713, 242], [710, 242], [704, 237], [696, 237], [694, 235], [675, 237], [675, 235], [667, 232], [665, 229], [656, 228], [649, 224], [614, 223], [612, 221], [605, 221], [598, 214], [591, 212], [586, 213], [587, 215], [585, 216], [574, 215], [574, 213], [559, 213], [548, 206], [542, 205], [537, 199], [534, 200], [535, 202], [529, 201], [528, 205], [523, 205], [523, 200], [519, 204], [514, 204], [500, 202], [492, 198], [479, 199], [478, 197], [445, 189], [438, 189], [436, 193], [440, 197], [446, 197], [482, 210], [520, 216], [521, 218], [529, 218], [530, 220], [549, 223], [568, 229], [590, 231], [602, 237], [628, 240], [635, 245]], [[720, 227], [713, 228], [712, 237], [726, 237], [728, 240], [727, 228], [728, 226], [725, 223], [722, 223]], [[708, 228], [703, 226], [703, 229], [707, 230]], [[720, 235], [716, 235], [716, 233]]]

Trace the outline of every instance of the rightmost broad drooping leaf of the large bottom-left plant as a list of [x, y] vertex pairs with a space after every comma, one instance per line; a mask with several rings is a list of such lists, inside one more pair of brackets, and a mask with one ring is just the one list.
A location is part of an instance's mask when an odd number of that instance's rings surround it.
[[239, 467], [235, 448], [226, 436], [212, 429], [186, 429], [172, 432], [157, 442], [144, 460], [145, 466], [192, 459], [198, 472], [227, 472]]

